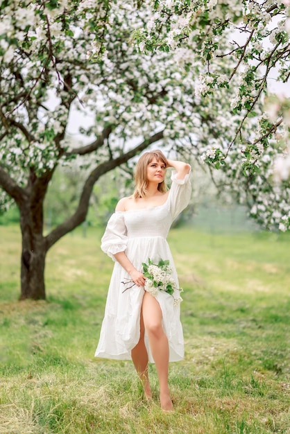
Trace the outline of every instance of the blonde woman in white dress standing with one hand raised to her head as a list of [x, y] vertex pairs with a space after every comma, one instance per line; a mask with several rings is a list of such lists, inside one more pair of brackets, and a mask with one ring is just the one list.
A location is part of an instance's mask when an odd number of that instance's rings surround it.
[[[164, 182], [168, 167], [175, 169], [169, 191]], [[160, 150], [144, 153], [136, 166], [135, 192], [119, 200], [101, 240], [101, 249], [115, 265], [95, 356], [132, 359], [148, 399], [148, 361], [155, 362], [163, 410], [173, 410], [169, 361], [184, 355], [180, 306], [163, 291], [153, 296], [144, 290], [142, 262], [169, 260], [178, 288], [166, 237], [173, 220], [188, 205], [190, 170], [189, 164], [166, 159]], [[124, 291], [123, 282], [129, 281], [132, 284]]]

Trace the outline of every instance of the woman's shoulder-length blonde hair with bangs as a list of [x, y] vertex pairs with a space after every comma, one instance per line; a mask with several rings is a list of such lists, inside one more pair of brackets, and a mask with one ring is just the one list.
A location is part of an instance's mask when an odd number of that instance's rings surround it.
[[[135, 191], [133, 196], [135, 199], [144, 198], [147, 193], [147, 166], [156, 158], [157, 162], [160, 160], [164, 163], [165, 167], [168, 166], [167, 158], [163, 155], [161, 150], [152, 150], [151, 152], [144, 153], [137, 162], [135, 168]], [[164, 180], [158, 184], [158, 190], [162, 193], [167, 191], [167, 185]]]

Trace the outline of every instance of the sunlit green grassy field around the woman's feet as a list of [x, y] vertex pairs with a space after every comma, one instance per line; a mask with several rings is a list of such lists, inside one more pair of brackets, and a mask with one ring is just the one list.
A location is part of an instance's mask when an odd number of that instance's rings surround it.
[[290, 433], [289, 234], [173, 229], [185, 360], [175, 412], [147, 403], [130, 361], [94, 358], [112, 261], [101, 232], [62, 239], [47, 302], [18, 302], [19, 231], [0, 227], [0, 434]]

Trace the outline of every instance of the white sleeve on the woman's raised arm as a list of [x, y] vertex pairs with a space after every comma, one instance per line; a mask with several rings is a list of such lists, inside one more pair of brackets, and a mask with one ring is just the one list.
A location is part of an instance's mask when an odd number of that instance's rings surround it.
[[169, 191], [169, 207], [173, 220], [175, 220], [178, 214], [189, 204], [191, 196], [190, 172], [185, 175], [183, 180], [176, 178], [176, 171], [173, 171], [171, 174], [172, 182]]

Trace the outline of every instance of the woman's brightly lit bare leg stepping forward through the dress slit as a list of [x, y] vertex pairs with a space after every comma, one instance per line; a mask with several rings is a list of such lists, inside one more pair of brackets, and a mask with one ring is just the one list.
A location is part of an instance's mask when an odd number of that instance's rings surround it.
[[151, 294], [145, 293], [142, 311], [144, 327], [148, 333], [149, 344], [160, 383], [160, 405], [162, 410], [173, 410], [168, 385], [169, 345], [162, 327], [160, 304]]

